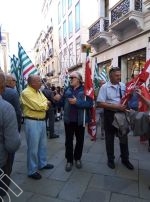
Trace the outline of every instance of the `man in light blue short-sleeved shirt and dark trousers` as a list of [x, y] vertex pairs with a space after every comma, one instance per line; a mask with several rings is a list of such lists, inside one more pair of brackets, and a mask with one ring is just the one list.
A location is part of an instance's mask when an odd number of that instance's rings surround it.
[[[108, 157], [108, 167], [115, 168], [114, 163], [114, 137], [117, 133], [117, 129], [112, 125], [114, 120], [114, 114], [117, 111], [123, 112], [126, 110], [126, 106], [121, 104], [121, 98], [125, 92], [124, 83], [121, 80], [121, 70], [119, 67], [111, 68], [109, 71], [110, 81], [106, 82], [100, 88], [97, 97], [97, 106], [104, 108], [104, 129], [105, 129], [105, 142], [106, 152]], [[129, 161], [128, 150], [128, 137], [119, 137], [120, 151], [122, 163], [130, 170], [134, 167]]]

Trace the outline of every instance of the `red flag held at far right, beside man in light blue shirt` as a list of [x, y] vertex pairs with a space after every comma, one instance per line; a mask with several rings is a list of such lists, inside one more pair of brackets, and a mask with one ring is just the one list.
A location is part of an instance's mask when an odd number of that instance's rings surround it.
[[149, 77], [150, 60], [147, 60], [141, 73], [126, 84], [126, 92], [121, 99], [121, 103], [127, 104], [135, 87], [140, 87]]

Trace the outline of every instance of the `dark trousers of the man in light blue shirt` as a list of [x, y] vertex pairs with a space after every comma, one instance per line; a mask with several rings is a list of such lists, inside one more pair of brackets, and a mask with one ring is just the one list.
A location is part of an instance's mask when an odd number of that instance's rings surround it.
[[[113, 161], [114, 156], [114, 137], [117, 134], [117, 129], [112, 125], [114, 120], [114, 113], [110, 110], [104, 110], [104, 129], [105, 129], [105, 143], [108, 161]], [[120, 141], [120, 152], [123, 161], [129, 159], [128, 150], [128, 137], [127, 135], [119, 137]]]

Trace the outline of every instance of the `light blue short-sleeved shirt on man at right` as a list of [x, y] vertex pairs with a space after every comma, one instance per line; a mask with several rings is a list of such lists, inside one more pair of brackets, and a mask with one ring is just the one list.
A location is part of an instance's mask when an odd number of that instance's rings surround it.
[[[110, 81], [103, 84], [99, 90], [97, 96], [97, 102], [106, 102], [110, 104], [119, 104], [121, 100], [121, 96], [125, 93], [125, 84], [119, 82], [119, 84], [112, 84]], [[121, 95], [120, 95], [121, 90]]]

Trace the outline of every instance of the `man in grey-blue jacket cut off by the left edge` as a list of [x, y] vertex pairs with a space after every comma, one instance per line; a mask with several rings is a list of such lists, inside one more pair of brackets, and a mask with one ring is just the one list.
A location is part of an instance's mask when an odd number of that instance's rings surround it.
[[[11, 159], [10, 153], [14, 153], [20, 146], [20, 135], [18, 133], [17, 118], [13, 106], [2, 99], [2, 92], [5, 89], [5, 76], [0, 73], [0, 169], [1, 174], [10, 176]], [[2, 183], [2, 181], [4, 183]], [[0, 180], [0, 198], [6, 195], [10, 180], [4, 177]], [[6, 186], [5, 186], [6, 185]]]

